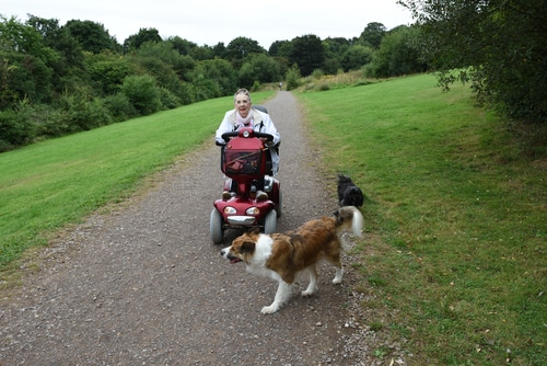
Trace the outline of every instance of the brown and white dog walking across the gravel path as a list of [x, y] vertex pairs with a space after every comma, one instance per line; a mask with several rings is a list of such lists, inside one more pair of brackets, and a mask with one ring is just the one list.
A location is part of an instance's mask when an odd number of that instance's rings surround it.
[[296, 286], [296, 274], [306, 271], [310, 284], [302, 296], [310, 296], [317, 289], [316, 264], [326, 259], [336, 267], [334, 284], [342, 281], [341, 250], [342, 233], [352, 231], [361, 236], [363, 216], [354, 206], [340, 207], [333, 217], [311, 220], [296, 230], [284, 233], [260, 233], [259, 229], [246, 232], [221, 250], [230, 263], [245, 262], [249, 273], [263, 275], [279, 282], [276, 298], [263, 313], [279, 310], [291, 297]]

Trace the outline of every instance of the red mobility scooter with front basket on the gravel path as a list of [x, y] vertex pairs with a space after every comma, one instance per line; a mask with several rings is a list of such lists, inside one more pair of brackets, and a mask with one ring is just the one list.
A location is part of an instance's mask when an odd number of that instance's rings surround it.
[[[214, 202], [210, 217], [211, 241], [221, 243], [228, 228], [259, 226], [265, 233], [275, 232], [281, 215], [281, 190], [271, 174], [269, 148], [260, 139], [271, 141], [274, 136], [245, 127], [223, 134], [222, 138], [226, 141], [221, 145], [221, 170], [226, 176], [224, 192], [231, 195]], [[266, 199], [257, 198], [258, 190], [267, 193]]]

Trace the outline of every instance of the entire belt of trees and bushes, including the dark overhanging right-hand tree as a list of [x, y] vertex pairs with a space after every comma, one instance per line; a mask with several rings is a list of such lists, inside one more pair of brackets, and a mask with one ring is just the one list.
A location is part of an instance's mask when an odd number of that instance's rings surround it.
[[[449, 90], [516, 125], [546, 126], [545, 0], [398, 0], [416, 20], [366, 24], [353, 38], [309, 34], [269, 49], [236, 37], [199, 46], [140, 28], [123, 44], [103, 24], [0, 15], [0, 151], [310, 75], [364, 78], [433, 71]], [[545, 130], [537, 128], [536, 130]]]

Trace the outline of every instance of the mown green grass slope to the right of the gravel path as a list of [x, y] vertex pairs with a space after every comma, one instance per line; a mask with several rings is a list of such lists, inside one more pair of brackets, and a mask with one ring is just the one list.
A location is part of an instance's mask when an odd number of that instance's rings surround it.
[[468, 88], [442, 93], [431, 76], [299, 98], [327, 172], [368, 196], [357, 267], [382, 300], [363, 306], [399, 311], [384, 327], [410, 339], [409, 359], [543, 364], [545, 157], [524, 156]]

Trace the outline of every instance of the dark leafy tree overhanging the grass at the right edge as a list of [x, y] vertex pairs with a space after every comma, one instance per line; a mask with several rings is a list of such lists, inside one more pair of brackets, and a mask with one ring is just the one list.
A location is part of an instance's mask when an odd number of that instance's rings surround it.
[[535, 0], [399, 0], [423, 31], [421, 50], [449, 89], [473, 82], [509, 117], [547, 123], [547, 7]]

